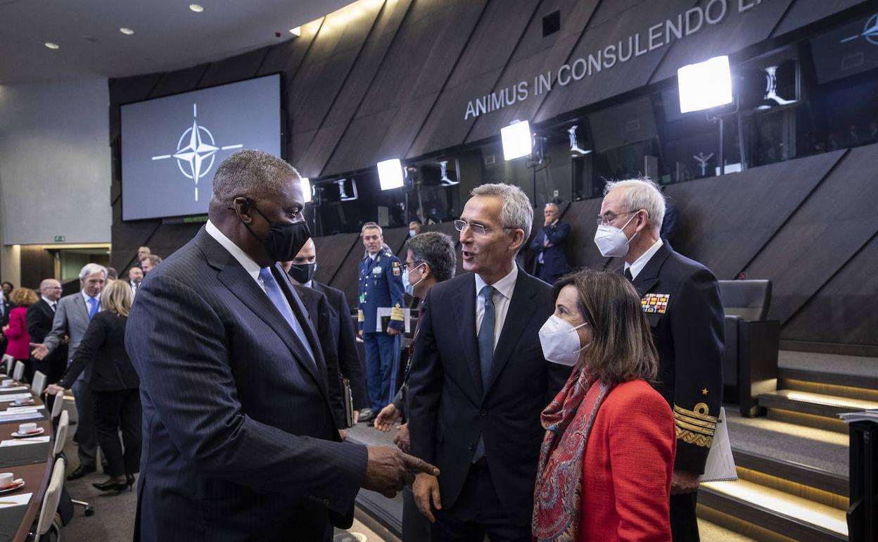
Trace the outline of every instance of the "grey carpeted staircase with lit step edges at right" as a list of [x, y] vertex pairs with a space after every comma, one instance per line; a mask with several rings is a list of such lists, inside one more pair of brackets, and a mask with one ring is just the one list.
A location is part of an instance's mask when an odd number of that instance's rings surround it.
[[878, 408], [878, 359], [781, 351], [766, 417], [726, 405], [737, 482], [702, 484], [699, 516], [765, 541], [847, 540], [848, 436], [838, 414]]

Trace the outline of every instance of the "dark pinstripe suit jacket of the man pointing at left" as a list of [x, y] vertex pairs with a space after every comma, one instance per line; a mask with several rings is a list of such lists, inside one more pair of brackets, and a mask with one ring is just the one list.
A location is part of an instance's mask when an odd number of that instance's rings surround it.
[[316, 366], [204, 228], [143, 281], [126, 329], [143, 403], [135, 539], [289, 539], [326, 509], [349, 524], [367, 452], [336, 442], [317, 336], [274, 273]]

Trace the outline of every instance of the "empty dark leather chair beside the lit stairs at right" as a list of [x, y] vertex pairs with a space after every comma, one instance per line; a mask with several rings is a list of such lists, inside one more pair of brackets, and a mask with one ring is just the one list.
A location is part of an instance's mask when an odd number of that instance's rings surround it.
[[775, 391], [778, 378], [781, 322], [766, 320], [771, 281], [720, 280], [719, 290], [725, 311], [725, 400], [737, 400], [741, 416], [759, 416], [759, 394]]

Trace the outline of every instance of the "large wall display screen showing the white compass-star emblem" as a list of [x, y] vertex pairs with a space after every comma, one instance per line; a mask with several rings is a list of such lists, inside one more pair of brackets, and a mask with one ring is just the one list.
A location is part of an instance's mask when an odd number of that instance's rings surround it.
[[207, 213], [219, 163], [280, 155], [280, 76], [122, 105], [122, 220]]

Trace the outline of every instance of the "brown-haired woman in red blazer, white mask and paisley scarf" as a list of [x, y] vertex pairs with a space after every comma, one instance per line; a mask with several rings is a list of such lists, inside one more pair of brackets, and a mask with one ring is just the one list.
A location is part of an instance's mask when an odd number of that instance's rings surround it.
[[534, 539], [670, 541], [676, 432], [650, 385], [659, 356], [640, 298], [596, 271], [561, 278], [554, 296], [543, 354], [573, 371], [543, 410]]

